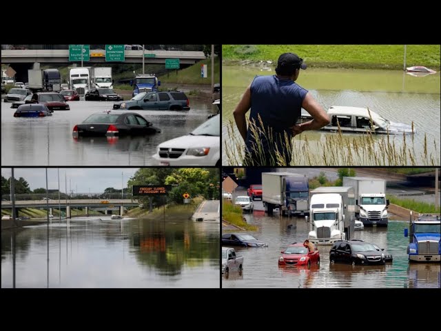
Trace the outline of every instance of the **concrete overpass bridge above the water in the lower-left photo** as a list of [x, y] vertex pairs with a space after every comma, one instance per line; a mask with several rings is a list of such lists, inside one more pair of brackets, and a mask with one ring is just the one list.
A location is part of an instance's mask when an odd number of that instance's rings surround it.
[[[50, 200], [48, 202], [44, 200], [27, 200], [27, 201], [15, 201], [15, 214], [19, 217], [19, 210], [22, 208], [39, 208], [46, 209], [49, 208], [50, 214], [53, 210], [65, 210], [66, 217], [70, 218], [72, 216], [72, 208], [84, 208], [85, 214], [89, 214], [89, 210], [103, 210], [105, 214], [110, 210], [119, 210], [119, 214], [123, 214], [123, 208], [127, 207], [137, 207], [139, 202], [131, 199], [110, 199], [110, 200], [99, 200], [99, 199], [77, 199], [68, 200]], [[11, 201], [1, 201], [1, 209], [12, 209]]]

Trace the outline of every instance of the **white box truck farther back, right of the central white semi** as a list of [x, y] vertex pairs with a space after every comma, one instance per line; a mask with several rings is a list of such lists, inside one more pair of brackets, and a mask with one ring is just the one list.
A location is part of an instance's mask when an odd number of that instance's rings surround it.
[[386, 181], [369, 177], [343, 177], [343, 186], [352, 186], [356, 197], [356, 217], [365, 226], [387, 226], [389, 215]]

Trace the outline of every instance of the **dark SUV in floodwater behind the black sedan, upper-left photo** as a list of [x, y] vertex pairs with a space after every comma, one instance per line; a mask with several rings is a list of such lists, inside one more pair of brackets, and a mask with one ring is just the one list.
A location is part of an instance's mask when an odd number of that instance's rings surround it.
[[144, 110], [190, 110], [189, 100], [184, 92], [147, 92], [136, 94], [129, 101], [114, 103], [113, 109]]

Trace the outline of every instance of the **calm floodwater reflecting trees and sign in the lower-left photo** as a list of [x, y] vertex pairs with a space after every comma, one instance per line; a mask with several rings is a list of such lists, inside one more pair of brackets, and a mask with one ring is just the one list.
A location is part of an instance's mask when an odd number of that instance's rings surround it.
[[1, 231], [1, 288], [219, 288], [219, 223], [54, 221]]

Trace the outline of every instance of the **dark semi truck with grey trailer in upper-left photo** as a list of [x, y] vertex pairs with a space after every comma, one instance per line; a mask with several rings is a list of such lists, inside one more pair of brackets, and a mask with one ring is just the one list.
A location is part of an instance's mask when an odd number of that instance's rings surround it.
[[28, 88], [34, 92], [59, 92], [61, 74], [58, 69], [29, 69]]

